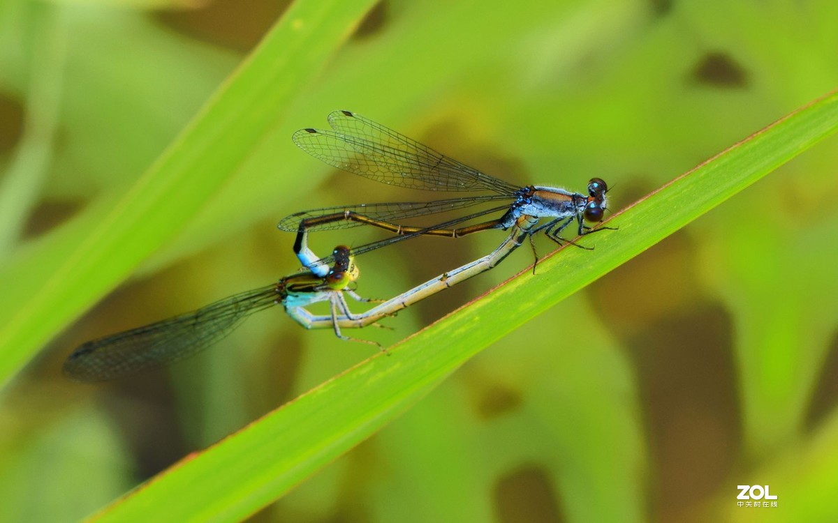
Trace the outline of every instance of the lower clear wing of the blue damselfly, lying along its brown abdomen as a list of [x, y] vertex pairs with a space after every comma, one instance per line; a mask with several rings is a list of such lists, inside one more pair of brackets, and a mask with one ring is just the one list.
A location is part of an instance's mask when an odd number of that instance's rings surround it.
[[[468, 208], [473, 205], [477, 205], [478, 203], [509, 199], [510, 197], [505, 195], [489, 195], [468, 198], [452, 198], [450, 200], [437, 200], [435, 202], [356, 203], [353, 205], [342, 205], [293, 213], [290, 216], [282, 218], [278, 227], [283, 231], [296, 233], [300, 223], [304, 219], [318, 218], [321, 216], [328, 216], [330, 214], [339, 214], [344, 213], [345, 211], [363, 214], [367, 218], [372, 218], [380, 222], [397, 223], [407, 218], [445, 213], [446, 211]], [[308, 230], [333, 230], [339, 228], [358, 227], [359, 225], [364, 225], [364, 223], [354, 222], [352, 220], [338, 220], [329, 223], [315, 223], [310, 225]]]

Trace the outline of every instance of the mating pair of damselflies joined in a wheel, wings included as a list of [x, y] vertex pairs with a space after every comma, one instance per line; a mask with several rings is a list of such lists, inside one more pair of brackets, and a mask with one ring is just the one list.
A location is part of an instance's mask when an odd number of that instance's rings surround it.
[[[536, 233], [545, 233], [557, 244], [577, 245], [561, 236], [569, 226], [575, 225], [573, 232], [577, 236], [608, 229], [587, 225], [601, 222], [607, 208], [608, 186], [600, 178], [588, 182], [587, 194], [559, 187], [518, 187], [353, 112], [334, 111], [328, 115], [328, 122], [332, 127], [329, 131], [309, 128], [295, 132], [294, 143], [331, 166], [377, 182], [426, 191], [489, 194], [432, 202], [361, 203], [291, 214], [282, 219], [279, 228], [297, 233], [293, 249], [303, 263], [301, 271], [275, 284], [230, 296], [184, 315], [88, 341], [65, 361], [65, 374], [79, 381], [101, 381], [162, 367], [212, 345], [248, 315], [273, 305], [282, 305], [293, 320], [308, 329], [331, 328], [340, 338], [365, 341], [344, 336], [342, 329], [376, 324], [429, 295], [483, 273], [499, 264], [525, 239], [529, 238], [532, 244]], [[478, 205], [484, 208], [427, 227], [400, 223]], [[493, 219], [468, 224], [493, 213]], [[365, 224], [394, 235], [353, 249], [341, 245], [323, 258], [308, 247], [309, 233]], [[417, 236], [459, 238], [489, 229], [500, 229], [507, 235], [494, 251], [482, 258], [448, 270], [390, 300], [369, 300], [354, 291], [359, 276], [355, 256]], [[377, 303], [355, 314], [346, 295], [357, 301]], [[308, 305], [318, 302], [328, 302], [330, 314], [315, 315], [308, 310]]]

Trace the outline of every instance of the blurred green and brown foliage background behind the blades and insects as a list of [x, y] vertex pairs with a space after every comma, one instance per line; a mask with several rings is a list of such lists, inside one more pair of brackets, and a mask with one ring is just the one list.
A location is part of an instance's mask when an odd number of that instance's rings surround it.
[[[0, 3], [0, 266], [130, 191], [285, 8]], [[836, 49], [827, 0], [380, 3], [177, 238], [5, 387], [0, 520], [90, 514], [371, 355], [271, 310], [166, 371], [60, 375], [85, 340], [297, 269], [289, 213], [425, 196], [336, 172], [292, 131], [354, 110], [522, 185], [603, 177], [617, 210], [834, 89]], [[253, 520], [838, 520], [836, 144], [499, 341]], [[390, 297], [502, 237], [366, 255], [359, 290]], [[519, 249], [351, 334], [394, 343], [530, 263]], [[738, 507], [736, 485], [778, 506]]]

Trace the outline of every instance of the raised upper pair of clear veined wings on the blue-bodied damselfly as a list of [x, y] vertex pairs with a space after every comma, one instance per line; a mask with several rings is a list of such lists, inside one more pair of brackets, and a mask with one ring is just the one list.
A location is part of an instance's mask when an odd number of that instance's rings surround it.
[[348, 110], [334, 111], [328, 122], [333, 131], [301, 129], [293, 141], [344, 171], [427, 191], [492, 191], [509, 196], [520, 189]]

